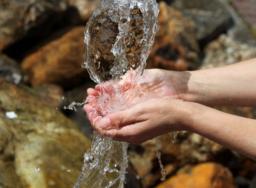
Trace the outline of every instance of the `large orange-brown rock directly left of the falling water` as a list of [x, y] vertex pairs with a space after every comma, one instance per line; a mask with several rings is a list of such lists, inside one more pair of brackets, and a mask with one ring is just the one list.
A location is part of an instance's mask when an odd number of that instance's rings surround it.
[[63, 36], [44, 45], [21, 62], [31, 85], [57, 83], [72, 88], [89, 78], [84, 60], [84, 27], [75, 27]]

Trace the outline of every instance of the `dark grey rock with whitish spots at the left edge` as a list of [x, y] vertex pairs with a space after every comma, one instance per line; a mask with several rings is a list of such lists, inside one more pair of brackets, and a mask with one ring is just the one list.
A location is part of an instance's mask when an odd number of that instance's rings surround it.
[[25, 73], [18, 62], [3, 54], [0, 54], [0, 77], [16, 84], [26, 82]]

